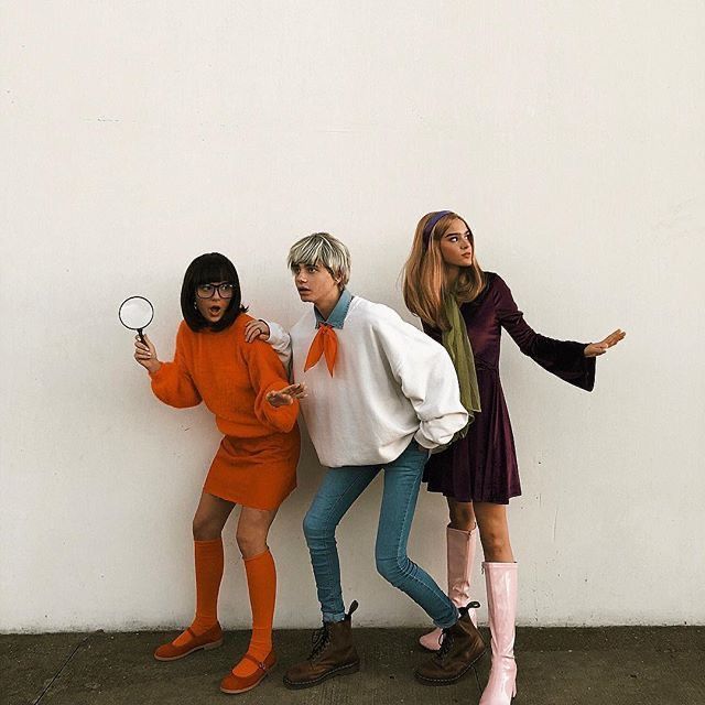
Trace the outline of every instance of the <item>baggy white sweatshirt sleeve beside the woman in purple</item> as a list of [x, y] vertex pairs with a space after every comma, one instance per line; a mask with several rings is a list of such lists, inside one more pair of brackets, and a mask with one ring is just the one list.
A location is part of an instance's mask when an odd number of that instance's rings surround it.
[[414, 438], [432, 451], [451, 443], [467, 424], [458, 378], [445, 349], [410, 325], [395, 311], [380, 305], [377, 337], [402, 393], [414, 408]]

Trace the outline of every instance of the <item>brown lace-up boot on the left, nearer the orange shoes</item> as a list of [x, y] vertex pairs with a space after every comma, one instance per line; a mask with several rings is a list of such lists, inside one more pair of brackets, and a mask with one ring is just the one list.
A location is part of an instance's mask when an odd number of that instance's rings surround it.
[[360, 670], [360, 658], [352, 644], [350, 619], [356, 609], [357, 601], [352, 600], [343, 621], [324, 621], [323, 627], [314, 631], [311, 655], [286, 671], [286, 687], [312, 687], [335, 675], [349, 675]]

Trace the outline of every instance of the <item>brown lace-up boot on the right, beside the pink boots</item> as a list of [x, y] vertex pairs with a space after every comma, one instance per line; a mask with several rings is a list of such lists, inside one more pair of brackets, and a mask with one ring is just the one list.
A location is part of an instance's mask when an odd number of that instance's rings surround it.
[[485, 653], [485, 643], [473, 623], [468, 609], [479, 607], [470, 603], [460, 607], [460, 619], [443, 630], [441, 649], [414, 672], [424, 685], [449, 685], [459, 681], [470, 666]]

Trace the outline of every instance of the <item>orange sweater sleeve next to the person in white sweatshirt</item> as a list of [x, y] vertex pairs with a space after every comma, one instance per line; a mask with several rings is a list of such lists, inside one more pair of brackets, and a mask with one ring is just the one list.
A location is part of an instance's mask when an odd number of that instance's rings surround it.
[[[270, 328], [271, 330], [271, 328]], [[274, 350], [263, 340], [245, 346], [250, 383], [254, 390], [254, 415], [272, 431], [286, 433], [294, 427], [299, 415], [299, 401], [289, 406], [272, 406], [267, 393], [289, 386], [289, 380]]]

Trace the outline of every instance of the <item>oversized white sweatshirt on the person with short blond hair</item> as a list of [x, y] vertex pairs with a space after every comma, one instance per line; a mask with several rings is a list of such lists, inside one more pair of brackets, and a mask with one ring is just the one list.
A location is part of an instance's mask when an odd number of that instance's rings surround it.
[[457, 375], [443, 346], [382, 304], [352, 297], [341, 328], [334, 376], [325, 359], [304, 362], [317, 333], [313, 306], [288, 334], [267, 321], [269, 343], [292, 377], [305, 382], [301, 410], [321, 464], [379, 465], [415, 441], [432, 451], [467, 423]]

